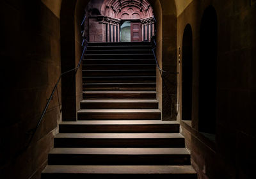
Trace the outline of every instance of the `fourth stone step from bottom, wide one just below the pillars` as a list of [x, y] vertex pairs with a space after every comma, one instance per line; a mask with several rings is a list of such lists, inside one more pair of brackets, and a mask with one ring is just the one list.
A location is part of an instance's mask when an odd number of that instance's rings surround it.
[[62, 121], [60, 133], [178, 133], [177, 121], [161, 120], [87, 120]]

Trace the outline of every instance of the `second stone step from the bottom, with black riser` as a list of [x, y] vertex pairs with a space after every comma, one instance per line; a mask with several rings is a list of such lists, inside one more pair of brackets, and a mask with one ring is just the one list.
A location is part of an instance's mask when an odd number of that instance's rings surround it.
[[186, 148], [53, 148], [49, 165], [190, 165]]

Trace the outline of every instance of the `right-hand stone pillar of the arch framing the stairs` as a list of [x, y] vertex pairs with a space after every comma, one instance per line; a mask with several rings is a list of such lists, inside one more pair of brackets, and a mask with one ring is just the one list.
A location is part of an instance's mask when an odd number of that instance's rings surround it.
[[[177, 15], [175, 2], [149, 2], [154, 8], [157, 19], [157, 61], [163, 70], [176, 72]], [[164, 74], [163, 76], [165, 81], [162, 81], [160, 73], [157, 72], [157, 99], [159, 100], [159, 109], [162, 111], [162, 120], [176, 120], [176, 75]]]

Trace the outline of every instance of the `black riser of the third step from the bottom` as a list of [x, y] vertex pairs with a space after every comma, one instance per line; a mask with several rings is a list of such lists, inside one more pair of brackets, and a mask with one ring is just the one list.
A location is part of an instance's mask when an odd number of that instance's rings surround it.
[[54, 139], [55, 148], [184, 148], [183, 138], [173, 139]]

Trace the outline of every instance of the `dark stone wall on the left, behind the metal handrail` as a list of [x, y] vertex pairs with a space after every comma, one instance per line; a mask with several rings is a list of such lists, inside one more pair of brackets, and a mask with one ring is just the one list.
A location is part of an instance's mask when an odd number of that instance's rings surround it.
[[[45, 166], [61, 116], [54, 93], [31, 145], [24, 150], [28, 132], [36, 127], [60, 75], [60, 19], [40, 1], [1, 1], [0, 8], [4, 69], [0, 173], [3, 178], [30, 178]], [[59, 98], [60, 89], [61, 83]]]

